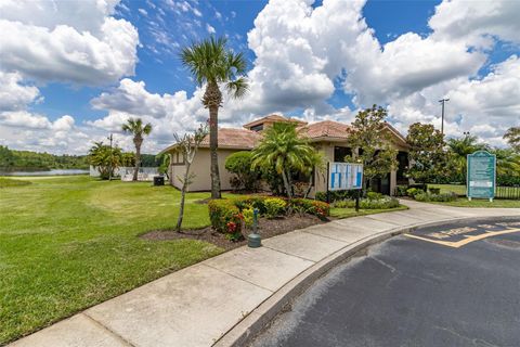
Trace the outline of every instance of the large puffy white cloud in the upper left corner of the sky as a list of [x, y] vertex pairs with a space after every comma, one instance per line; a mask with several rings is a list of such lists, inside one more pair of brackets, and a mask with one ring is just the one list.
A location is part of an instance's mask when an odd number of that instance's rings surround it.
[[0, 5], [3, 70], [43, 82], [103, 85], [133, 75], [136, 29], [110, 16], [118, 1], [8, 1]]

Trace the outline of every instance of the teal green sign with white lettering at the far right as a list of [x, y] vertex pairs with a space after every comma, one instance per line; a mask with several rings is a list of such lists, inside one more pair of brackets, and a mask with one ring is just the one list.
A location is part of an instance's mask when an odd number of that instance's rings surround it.
[[495, 197], [496, 187], [496, 156], [485, 151], [468, 154], [467, 195], [471, 198]]

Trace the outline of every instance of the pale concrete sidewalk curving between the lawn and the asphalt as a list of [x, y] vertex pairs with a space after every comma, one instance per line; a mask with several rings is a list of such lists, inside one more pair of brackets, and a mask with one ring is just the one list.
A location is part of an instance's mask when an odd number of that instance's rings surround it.
[[[410, 209], [313, 226], [264, 240], [261, 248], [236, 248], [94, 306], [11, 346], [211, 346], [235, 326], [247, 329], [256, 319], [249, 313], [262, 303], [276, 300], [277, 292], [289, 282], [352, 245], [364, 246], [378, 235], [390, 236], [425, 223], [520, 216], [520, 208], [403, 204]], [[219, 345], [233, 342], [230, 335]]]

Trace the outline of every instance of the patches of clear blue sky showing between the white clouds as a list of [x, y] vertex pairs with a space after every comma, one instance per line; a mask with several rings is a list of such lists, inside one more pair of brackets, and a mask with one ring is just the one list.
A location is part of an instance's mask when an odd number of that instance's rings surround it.
[[[428, 18], [433, 14], [434, 7], [440, 1], [381, 1], [368, 0], [363, 9], [368, 25], [375, 29], [375, 35], [379, 42], [386, 43], [393, 40], [396, 36], [407, 31], [427, 34], [431, 31], [427, 25]], [[139, 30], [140, 39], [144, 46], [138, 53], [139, 63], [135, 68], [135, 79], [146, 81], [146, 89], [153, 93], [171, 93], [177, 90], [186, 90], [193, 93], [195, 85], [190, 78], [188, 73], [181, 66], [178, 52], [180, 48], [170, 47], [171, 51], [165, 52], [165, 47], [157, 43], [151, 34], [150, 17], [157, 15], [161, 2], [146, 1], [123, 1], [128, 11], [120, 9], [117, 16], [130, 21]], [[154, 8], [150, 4], [153, 3]], [[247, 33], [253, 27], [253, 21], [258, 13], [264, 8], [266, 1], [212, 1], [200, 2], [197, 7], [202, 15], [197, 16], [192, 11], [182, 13], [182, 20], [179, 16], [170, 14], [167, 18], [168, 35], [176, 39], [180, 47], [190, 44], [208, 37], [209, 33], [206, 24], [216, 29], [216, 36], [229, 36], [230, 46], [246, 53], [249, 65], [252, 64], [255, 53], [247, 48]], [[320, 5], [321, 1], [315, 3]], [[167, 4], [164, 3], [166, 8]], [[143, 9], [147, 15], [139, 10]], [[214, 13], [221, 13], [222, 18], [216, 17]], [[195, 21], [200, 23], [197, 26]], [[193, 31], [185, 31], [185, 23], [193, 24]], [[186, 39], [182, 35], [186, 35]], [[155, 53], [147, 46], [154, 46], [159, 53]], [[500, 59], [500, 56], [497, 56]], [[103, 89], [103, 88], [101, 88]], [[50, 116], [51, 119], [58, 118], [61, 115], [74, 114], [79, 119], [94, 120], [104, 115], [105, 112], [92, 110], [90, 100], [100, 93], [100, 88], [89, 88], [77, 86], [51, 83], [41, 89], [46, 95], [46, 102], [35, 105], [34, 111]], [[353, 106], [351, 94], [344, 93], [340, 88], [336, 88], [334, 95], [328, 102], [335, 107]], [[295, 110], [288, 114], [297, 115], [301, 110]]]

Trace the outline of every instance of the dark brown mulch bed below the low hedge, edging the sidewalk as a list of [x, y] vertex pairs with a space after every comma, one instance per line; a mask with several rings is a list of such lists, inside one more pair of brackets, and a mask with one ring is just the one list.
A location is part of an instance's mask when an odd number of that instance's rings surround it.
[[[292, 215], [276, 219], [260, 218], [258, 221], [258, 233], [262, 236], [262, 239], [269, 239], [272, 236], [285, 234], [289, 231], [303, 229], [310, 226], [322, 224], [325, 222], [326, 221], [323, 221], [320, 218], [310, 215]], [[244, 230], [243, 234], [245, 237], [243, 241], [238, 242], [229, 241], [227, 239], [225, 239], [225, 235], [223, 233], [214, 231], [213, 229], [211, 229], [211, 227], [207, 227], [204, 229], [183, 230], [181, 233], [173, 230], [155, 230], [147, 232], [140, 237], [153, 241], [180, 239], [200, 240], [212, 243], [216, 246], [229, 250], [247, 244], [246, 237], [249, 233], [249, 230]]]

